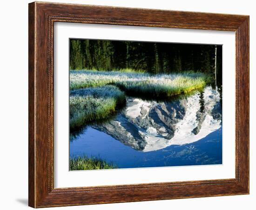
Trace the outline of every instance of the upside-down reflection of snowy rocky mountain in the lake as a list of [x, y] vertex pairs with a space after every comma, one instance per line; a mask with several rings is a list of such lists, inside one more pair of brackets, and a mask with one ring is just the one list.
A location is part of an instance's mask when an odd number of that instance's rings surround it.
[[92, 127], [137, 151], [189, 144], [221, 127], [220, 98], [211, 86], [168, 102], [128, 98], [126, 109], [116, 118]]

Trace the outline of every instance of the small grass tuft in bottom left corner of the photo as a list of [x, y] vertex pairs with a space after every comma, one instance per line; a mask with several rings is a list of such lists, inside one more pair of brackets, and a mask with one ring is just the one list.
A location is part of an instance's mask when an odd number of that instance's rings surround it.
[[115, 169], [117, 168], [114, 164], [109, 164], [101, 158], [95, 157], [72, 157], [69, 160], [69, 170], [95, 170], [95, 169]]

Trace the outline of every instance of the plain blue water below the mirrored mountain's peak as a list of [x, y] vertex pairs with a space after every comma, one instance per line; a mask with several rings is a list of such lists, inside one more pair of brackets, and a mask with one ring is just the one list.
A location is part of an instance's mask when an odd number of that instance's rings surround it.
[[137, 151], [108, 134], [88, 127], [70, 142], [70, 157], [100, 157], [118, 168], [222, 164], [222, 127], [191, 144]]

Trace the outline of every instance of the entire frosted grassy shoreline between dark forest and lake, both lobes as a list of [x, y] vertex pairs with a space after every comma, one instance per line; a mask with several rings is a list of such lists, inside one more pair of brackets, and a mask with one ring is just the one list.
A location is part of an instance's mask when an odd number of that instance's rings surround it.
[[103, 71], [70, 71], [70, 131], [111, 117], [126, 104], [126, 96], [168, 99], [203, 88], [209, 77], [185, 72], [157, 74]]

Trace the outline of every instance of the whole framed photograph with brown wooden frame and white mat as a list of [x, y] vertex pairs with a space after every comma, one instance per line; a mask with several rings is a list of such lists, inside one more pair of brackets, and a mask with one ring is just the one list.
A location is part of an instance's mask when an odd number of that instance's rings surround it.
[[249, 16], [28, 15], [29, 206], [249, 194]]

